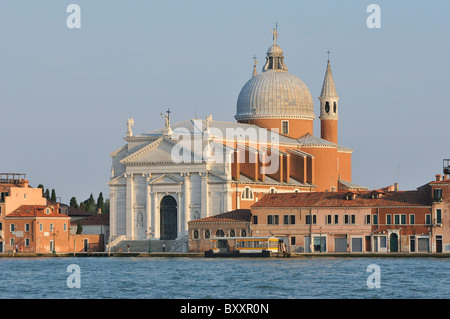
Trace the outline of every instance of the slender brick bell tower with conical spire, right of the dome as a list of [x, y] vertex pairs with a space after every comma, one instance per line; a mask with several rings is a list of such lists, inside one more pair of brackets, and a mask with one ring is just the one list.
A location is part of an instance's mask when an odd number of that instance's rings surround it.
[[[329, 53], [329, 52], [328, 52]], [[338, 100], [331, 73], [330, 60], [327, 62], [327, 70], [320, 93], [320, 137], [337, 144], [338, 138]]]

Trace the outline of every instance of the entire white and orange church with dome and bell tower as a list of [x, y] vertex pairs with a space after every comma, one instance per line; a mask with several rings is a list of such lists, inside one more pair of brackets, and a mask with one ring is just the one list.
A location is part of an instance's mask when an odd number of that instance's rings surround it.
[[189, 221], [248, 209], [270, 192], [360, 188], [352, 150], [338, 144], [338, 100], [328, 61], [314, 136], [311, 94], [288, 72], [274, 30], [262, 72], [255, 63], [238, 96], [237, 122], [172, 124], [168, 111], [162, 128], [134, 135], [128, 120], [126, 143], [110, 154], [111, 236], [180, 239]]

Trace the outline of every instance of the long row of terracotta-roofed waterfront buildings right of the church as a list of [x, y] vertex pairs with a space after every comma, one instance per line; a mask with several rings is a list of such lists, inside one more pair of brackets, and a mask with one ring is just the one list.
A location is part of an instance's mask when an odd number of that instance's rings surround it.
[[449, 186], [267, 194], [252, 206], [251, 230], [291, 252], [448, 252]]

